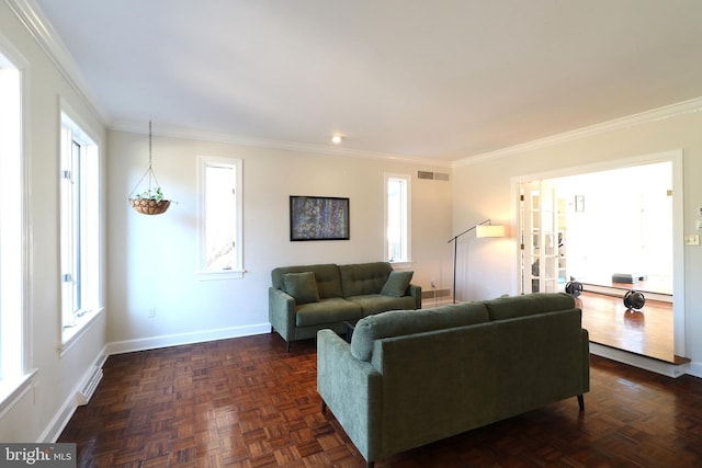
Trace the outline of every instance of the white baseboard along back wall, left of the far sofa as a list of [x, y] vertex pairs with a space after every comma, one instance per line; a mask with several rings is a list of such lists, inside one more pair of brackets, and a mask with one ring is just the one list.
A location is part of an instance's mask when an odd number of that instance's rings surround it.
[[206, 341], [226, 340], [229, 338], [250, 336], [269, 333], [271, 324], [258, 323], [246, 327], [229, 327], [216, 330], [205, 330], [192, 333], [177, 333], [160, 336], [140, 338], [136, 340], [115, 341], [107, 343], [107, 354], [131, 353], [134, 351], [156, 350], [159, 347], [178, 346], [180, 344], [202, 343]]

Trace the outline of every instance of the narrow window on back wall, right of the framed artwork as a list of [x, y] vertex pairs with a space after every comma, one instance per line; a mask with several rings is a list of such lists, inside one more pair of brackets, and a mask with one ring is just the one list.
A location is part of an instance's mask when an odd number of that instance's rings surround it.
[[385, 174], [385, 258], [389, 262], [409, 262], [410, 176]]

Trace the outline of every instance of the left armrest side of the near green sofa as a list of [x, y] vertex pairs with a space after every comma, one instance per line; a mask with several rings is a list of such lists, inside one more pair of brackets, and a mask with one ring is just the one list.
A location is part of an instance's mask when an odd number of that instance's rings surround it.
[[317, 332], [317, 391], [359, 452], [380, 455], [382, 376], [351, 355], [349, 343], [331, 330]]

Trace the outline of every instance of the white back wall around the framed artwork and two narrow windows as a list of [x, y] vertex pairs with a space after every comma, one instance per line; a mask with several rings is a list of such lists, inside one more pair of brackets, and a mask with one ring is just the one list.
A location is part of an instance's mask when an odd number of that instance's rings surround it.
[[[158, 121], [154, 122], [158, 133]], [[384, 159], [305, 153], [154, 136], [154, 170], [166, 214], [145, 216], [127, 196], [148, 163], [148, 136], [110, 132], [109, 341], [111, 351], [269, 332], [268, 287], [275, 266], [383, 259], [384, 172], [412, 175], [412, 283], [450, 287], [451, 182], [418, 180], [418, 170]], [[199, 155], [244, 159], [241, 279], [199, 281]], [[291, 242], [290, 195], [350, 198], [349, 241]], [[156, 317], [148, 310], [156, 308]], [[281, 341], [282, 344], [282, 341]]]

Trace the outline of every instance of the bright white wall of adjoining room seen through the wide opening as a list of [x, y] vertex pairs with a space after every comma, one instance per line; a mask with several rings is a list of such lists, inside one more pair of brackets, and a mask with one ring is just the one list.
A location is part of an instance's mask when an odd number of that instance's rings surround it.
[[[613, 273], [672, 281], [672, 173], [669, 162], [552, 180], [567, 201], [568, 274], [610, 284]], [[575, 210], [575, 196], [586, 209]], [[667, 289], [672, 288], [670, 283]], [[652, 290], [652, 289], [648, 289]]]

